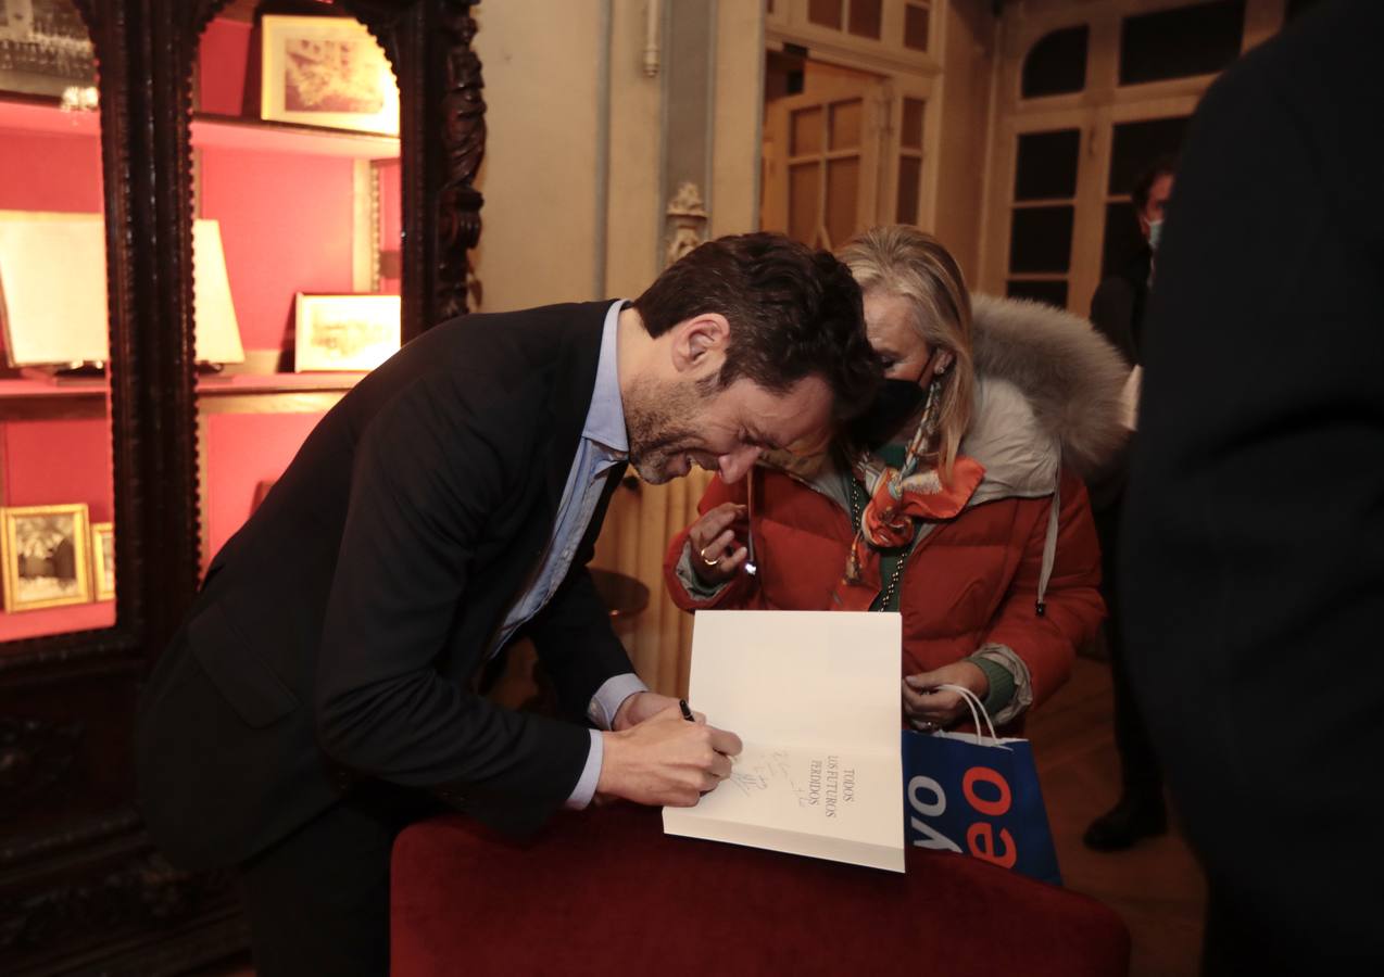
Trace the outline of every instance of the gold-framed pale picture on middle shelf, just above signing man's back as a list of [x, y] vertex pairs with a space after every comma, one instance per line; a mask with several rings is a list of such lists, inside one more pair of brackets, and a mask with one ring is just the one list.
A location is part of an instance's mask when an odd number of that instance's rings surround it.
[[293, 371], [374, 369], [399, 351], [397, 295], [298, 293]]

